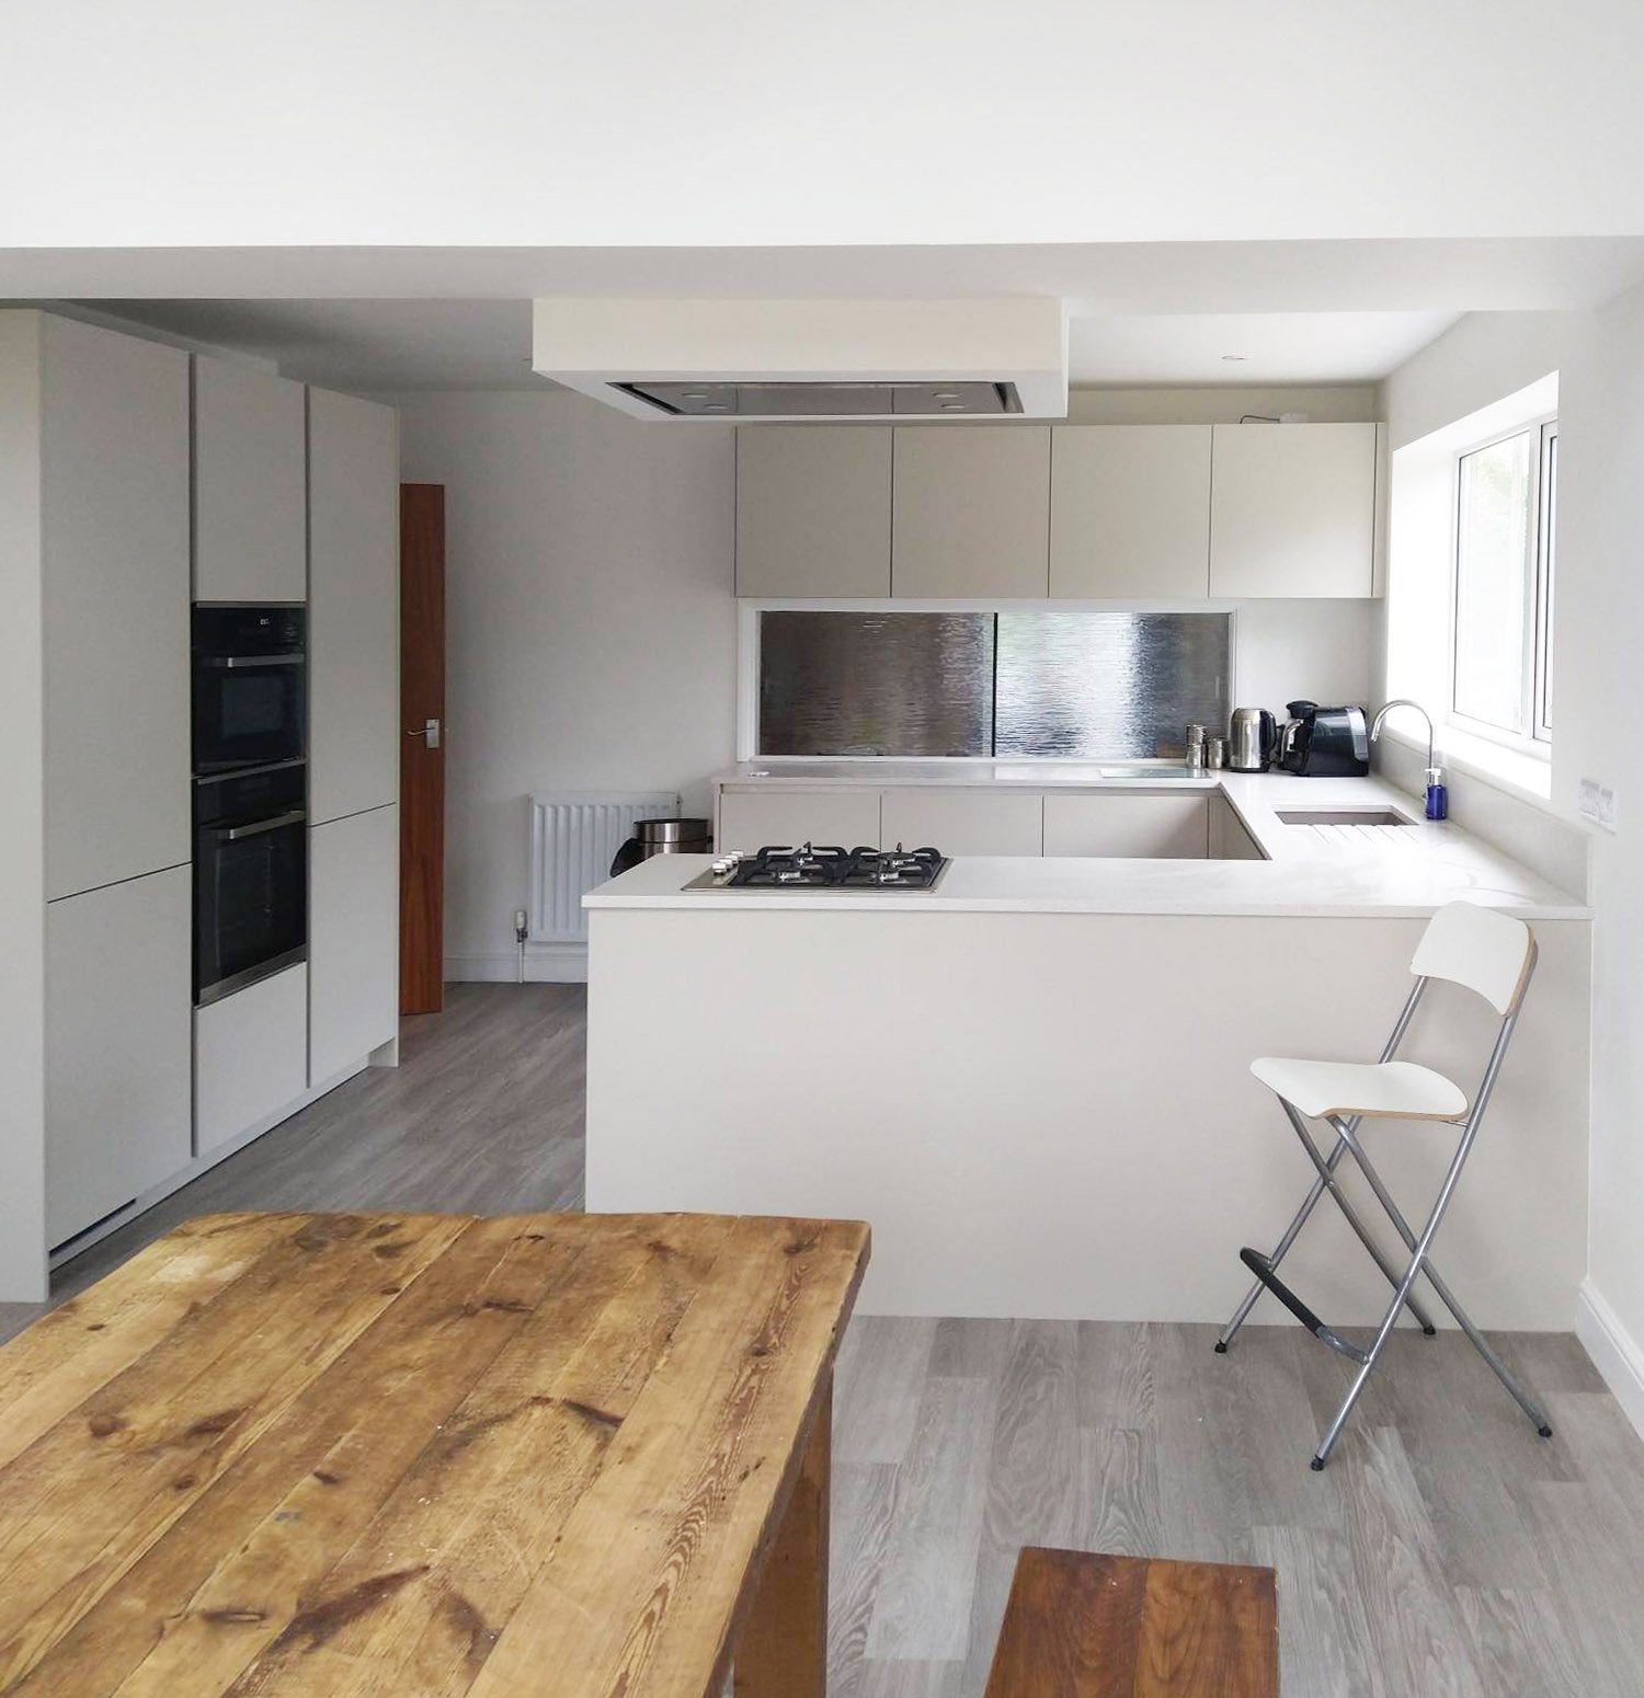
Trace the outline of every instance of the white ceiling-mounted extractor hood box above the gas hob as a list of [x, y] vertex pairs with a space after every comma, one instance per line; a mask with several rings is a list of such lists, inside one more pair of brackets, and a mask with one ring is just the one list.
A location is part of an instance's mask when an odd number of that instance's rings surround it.
[[537, 301], [532, 365], [635, 418], [1067, 416], [1060, 301]]

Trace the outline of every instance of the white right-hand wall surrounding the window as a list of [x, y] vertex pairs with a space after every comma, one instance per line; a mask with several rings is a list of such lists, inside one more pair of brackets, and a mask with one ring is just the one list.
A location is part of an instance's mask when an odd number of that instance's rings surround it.
[[[1591, 835], [1591, 1243], [1581, 1336], [1644, 1428], [1644, 825], [1639, 798], [1627, 790], [1644, 652], [1644, 508], [1637, 498], [1644, 290], [1581, 316], [1464, 319], [1393, 374], [1386, 402], [1393, 441], [1403, 445], [1522, 389], [1549, 362], [1559, 370], [1556, 732], [1552, 798], [1535, 830], [1545, 835], [1559, 820], [1576, 829], [1581, 778], [1617, 786], [1617, 834]], [[1394, 513], [1394, 594], [1401, 569], [1437, 571], [1440, 557], [1427, 550], [1425, 565], [1410, 560]], [[1479, 807], [1505, 822], [1510, 808], [1501, 796], [1486, 801], [1488, 788], [1452, 774], [1462, 808], [1476, 795]], [[1510, 824], [1500, 829], [1513, 834]]]

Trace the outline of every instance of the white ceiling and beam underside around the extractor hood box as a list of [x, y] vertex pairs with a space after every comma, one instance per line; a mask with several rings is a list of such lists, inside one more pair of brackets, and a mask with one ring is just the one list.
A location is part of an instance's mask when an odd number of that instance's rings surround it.
[[1384, 377], [1461, 312], [1579, 309], [1637, 280], [1644, 238], [0, 250], [12, 299], [78, 299], [355, 391], [540, 387], [533, 295], [1055, 295], [1075, 384], [1354, 384]]

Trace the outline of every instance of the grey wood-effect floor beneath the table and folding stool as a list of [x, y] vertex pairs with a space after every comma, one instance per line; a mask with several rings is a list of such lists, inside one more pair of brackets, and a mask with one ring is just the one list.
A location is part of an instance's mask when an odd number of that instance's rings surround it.
[[[340, 1087], [59, 1279], [217, 1209], [574, 1209], [583, 995], [452, 987]], [[1228, 1297], [1241, 1287], [1230, 1251]], [[36, 1311], [0, 1307], [0, 1336]], [[830, 1698], [980, 1698], [1022, 1543], [1279, 1571], [1286, 1698], [1644, 1698], [1644, 1443], [1574, 1338], [1396, 1335], [1325, 1474], [1347, 1363], [1296, 1326], [859, 1318], [837, 1372]]]

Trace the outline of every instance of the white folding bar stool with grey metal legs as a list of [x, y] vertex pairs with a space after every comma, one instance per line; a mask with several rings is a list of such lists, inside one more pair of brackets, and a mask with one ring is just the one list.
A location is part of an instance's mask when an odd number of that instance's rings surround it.
[[[1462, 1313], [1461, 1304], [1450, 1294], [1450, 1287], [1438, 1277], [1438, 1270], [1430, 1260], [1433, 1238], [1438, 1234], [1438, 1226], [1450, 1206], [1450, 1199], [1455, 1195], [1455, 1184], [1478, 1138], [1479, 1122], [1484, 1119], [1484, 1109], [1489, 1105], [1489, 1094], [1495, 1090], [1496, 1075], [1501, 1071], [1501, 1061], [1506, 1056], [1506, 1046], [1512, 1043], [1513, 1027], [1518, 1024], [1523, 993], [1529, 988], [1530, 975], [1535, 971], [1535, 937], [1523, 920], [1515, 920], [1508, 914], [1500, 914], [1495, 908], [1481, 908], [1471, 902], [1452, 902], [1433, 915], [1422, 934], [1422, 942], [1416, 946], [1410, 971], [1416, 976], [1415, 988], [1410, 992], [1405, 1012], [1399, 1014], [1379, 1061], [1365, 1065], [1355, 1061], [1296, 1061], [1281, 1056], [1262, 1056], [1250, 1063], [1250, 1071], [1277, 1095], [1318, 1177], [1313, 1180], [1313, 1189], [1303, 1200], [1296, 1217], [1284, 1229], [1284, 1236], [1272, 1255], [1264, 1257], [1258, 1250], [1240, 1250], [1240, 1260], [1255, 1274], [1255, 1284], [1250, 1287], [1245, 1301], [1235, 1309], [1233, 1319], [1228, 1321], [1221, 1338], [1216, 1341], [1216, 1350], [1225, 1352], [1233, 1343], [1235, 1335], [1255, 1307], [1257, 1297], [1264, 1290], [1270, 1290], [1309, 1333], [1330, 1345], [1332, 1350], [1359, 1363], [1359, 1374], [1347, 1392], [1347, 1399], [1337, 1411], [1337, 1418], [1330, 1423], [1313, 1457], [1315, 1469], [1325, 1465], [1330, 1452], [1335, 1448], [1337, 1438], [1342, 1437], [1342, 1428], [1347, 1425], [1347, 1418], [1352, 1414], [1354, 1404], [1359, 1401], [1359, 1394], [1364, 1391], [1365, 1380], [1369, 1380], [1382, 1347], [1393, 1333], [1399, 1309], [1408, 1307], [1422, 1324], [1422, 1331], [1432, 1336], [1433, 1324], [1413, 1296], [1416, 1279], [1422, 1274], [1427, 1275], [1428, 1284], [1438, 1294], [1444, 1306], [1455, 1316], [1457, 1326], [1472, 1340], [1474, 1348], [1491, 1365], [1496, 1379], [1512, 1392], [1518, 1408], [1530, 1418], [1540, 1437], [1552, 1437], [1552, 1428], [1547, 1425], [1545, 1414], [1542, 1414], [1525, 1389], [1506, 1370], [1506, 1363], [1489, 1348], [1483, 1333]], [[1428, 981], [1435, 978], [1476, 992], [1501, 1015], [1501, 1027], [1496, 1032], [1495, 1046], [1484, 1065], [1484, 1077], [1479, 1082], [1471, 1110], [1466, 1092], [1442, 1073], [1416, 1066], [1413, 1061], [1393, 1060], [1416, 1012], [1416, 1005], [1422, 1002], [1422, 993], [1427, 990]], [[1420, 1233], [1405, 1219], [1393, 1200], [1393, 1194], [1382, 1184], [1371, 1158], [1364, 1153], [1364, 1146], [1359, 1141], [1359, 1127], [1369, 1119], [1435, 1121], [1444, 1126], [1461, 1127], [1461, 1141], [1455, 1146], [1455, 1155], [1450, 1158], [1444, 1184], [1438, 1187], [1438, 1195], [1433, 1199], [1427, 1224]], [[1335, 1131], [1337, 1143], [1328, 1156], [1313, 1141], [1313, 1134], [1306, 1126], [1308, 1121], [1326, 1121]], [[1382, 1255], [1359, 1219], [1359, 1214], [1342, 1194], [1337, 1168], [1343, 1155], [1352, 1155], [1376, 1200], [1388, 1211], [1394, 1229], [1405, 1240], [1405, 1246], [1410, 1250], [1410, 1265], [1403, 1272]], [[1277, 1277], [1279, 1263], [1291, 1245], [1296, 1243], [1296, 1234], [1306, 1224], [1308, 1216], [1326, 1190], [1393, 1285], [1393, 1302], [1388, 1306], [1386, 1318], [1369, 1350], [1359, 1350], [1347, 1343], [1345, 1338], [1326, 1326]]]

